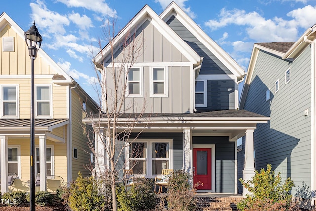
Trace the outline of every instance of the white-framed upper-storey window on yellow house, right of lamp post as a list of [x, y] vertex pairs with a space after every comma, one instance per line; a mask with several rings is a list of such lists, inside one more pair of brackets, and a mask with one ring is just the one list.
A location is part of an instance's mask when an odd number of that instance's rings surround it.
[[36, 116], [52, 117], [51, 86], [36, 85]]

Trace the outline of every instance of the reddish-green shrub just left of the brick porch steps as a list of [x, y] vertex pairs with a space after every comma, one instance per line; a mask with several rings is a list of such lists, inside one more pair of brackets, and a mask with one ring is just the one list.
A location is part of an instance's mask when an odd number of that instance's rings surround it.
[[[195, 189], [191, 189], [191, 176], [184, 170], [176, 170], [169, 178], [167, 207], [171, 211], [194, 211], [196, 198]], [[161, 201], [160, 201], [161, 202]]]

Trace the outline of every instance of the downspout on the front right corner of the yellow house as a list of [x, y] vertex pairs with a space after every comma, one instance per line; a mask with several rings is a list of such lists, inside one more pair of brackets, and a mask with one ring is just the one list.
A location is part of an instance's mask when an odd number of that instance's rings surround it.
[[72, 180], [73, 176], [73, 168], [72, 168], [72, 165], [73, 165], [73, 162], [72, 162], [72, 89], [75, 89], [77, 88], [77, 84], [75, 84], [73, 87], [70, 87], [69, 89], [69, 129], [68, 129], [68, 137], [69, 137], [69, 141], [67, 141], [67, 157], [68, 157], [68, 174], [67, 174], [67, 180], [68, 180], [68, 184], [69, 182]]

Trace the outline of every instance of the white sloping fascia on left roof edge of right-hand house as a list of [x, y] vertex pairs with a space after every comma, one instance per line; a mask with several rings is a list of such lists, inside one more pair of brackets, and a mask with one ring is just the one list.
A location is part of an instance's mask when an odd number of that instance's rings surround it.
[[249, 85], [250, 85], [250, 82], [252, 80], [253, 71], [254, 71], [254, 68], [256, 66], [256, 62], [257, 62], [257, 58], [258, 58], [258, 53], [259, 53], [258, 46], [259, 45], [254, 44], [252, 52], [251, 52], [248, 70], [247, 70], [247, 74], [246, 74], [246, 79], [245, 79], [245, 82], [244, 82], [244, 85], [242, 88], [242, 92], [241, 92], [241, 96], [240, 96], [240, 102], [239, 102], [240, 109], [243, 109], [244, 105], [245, 105], [246, 97], [247, 97], [248, 90], [249, 90]]

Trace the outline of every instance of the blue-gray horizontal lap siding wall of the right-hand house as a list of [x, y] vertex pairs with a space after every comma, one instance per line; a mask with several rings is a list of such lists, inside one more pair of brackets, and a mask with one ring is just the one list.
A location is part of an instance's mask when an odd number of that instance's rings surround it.
[[[289, 67], [291, 80], [285, 84]], [[279, 91], [275, 93], [277, 79]], [[265, 101], [267, 89], [270, 100]], [[270, 163], [283, 177], [291, 177], [296, 186], [303, 181], [310, 186], [311, 115], [304, 115], [306, 109], [311, 111], [310, 47], [293, 62], [260, 51], [244, 109], [271, 117], [268, 124], [258, 124], [254, 131], [256, 169]]]

